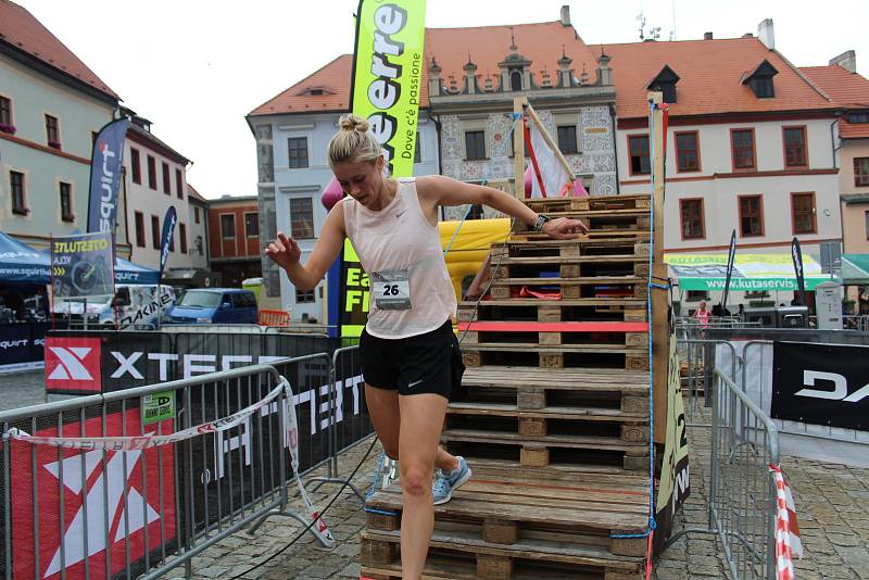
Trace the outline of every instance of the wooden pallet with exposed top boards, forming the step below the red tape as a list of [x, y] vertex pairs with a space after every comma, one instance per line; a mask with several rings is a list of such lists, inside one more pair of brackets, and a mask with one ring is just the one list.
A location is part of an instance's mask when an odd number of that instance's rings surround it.
[[[465, 371], [463, 403], [509, 405], [517, 411], [584, 407], [648, 415], [648, 375], [610, 368], [478, 367]], [[463, 404], [459, 403], [459, 404]]]

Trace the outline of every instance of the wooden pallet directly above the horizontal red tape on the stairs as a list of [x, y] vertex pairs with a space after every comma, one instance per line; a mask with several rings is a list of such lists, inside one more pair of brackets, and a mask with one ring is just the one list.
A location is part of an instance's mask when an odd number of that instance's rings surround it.
[[507, 299], [461, 302], [458, 320], [625, 321], [646, 320], [646, 303], [637, 299]]

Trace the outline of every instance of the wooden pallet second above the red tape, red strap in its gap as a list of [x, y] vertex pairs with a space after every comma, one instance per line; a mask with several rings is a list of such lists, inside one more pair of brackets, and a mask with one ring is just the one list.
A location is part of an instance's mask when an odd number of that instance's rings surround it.
[[501, 278], [492, 280], [490, 295], [495, 300], [521, 297], [521, 289], [543, 293], [561, 292], [562, 299], [620, 298], [645, 299], [648, 279], [640, 276], [590, 276], [581, 278]]

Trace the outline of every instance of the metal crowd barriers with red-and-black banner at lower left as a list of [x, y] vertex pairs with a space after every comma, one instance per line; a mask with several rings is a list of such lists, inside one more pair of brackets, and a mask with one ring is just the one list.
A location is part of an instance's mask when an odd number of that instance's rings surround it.
[[[276, 515], [308, 524], [289, 509], [287, 486], [333, 456], [335, 393], [317, 403], [332, 391], [331, 361], [311, 354], [0, 413], [0, 577], [150, 580], [178, 566], [189, 577], [193, 556], [244, 526]], [[150, 436], [179, 440], [150, 446]], [[117, 437], [136, 439], [100, 439]]]

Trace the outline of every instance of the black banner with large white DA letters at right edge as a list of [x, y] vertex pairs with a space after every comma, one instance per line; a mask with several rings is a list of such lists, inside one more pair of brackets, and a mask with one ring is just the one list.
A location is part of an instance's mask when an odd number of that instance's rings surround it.
[[869, 346], [776, 342], [770, 416], [869, 430]]

